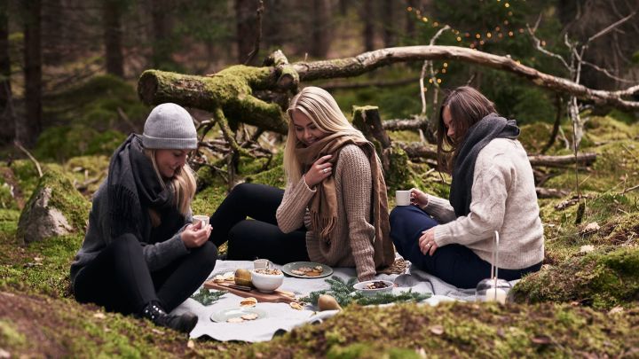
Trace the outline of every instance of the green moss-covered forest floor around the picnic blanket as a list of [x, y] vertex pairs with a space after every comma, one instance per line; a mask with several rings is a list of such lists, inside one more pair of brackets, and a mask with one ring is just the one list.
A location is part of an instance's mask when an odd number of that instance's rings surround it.
[[[122, 98], [130, 96], [112, 79], [88, 85], [114, 87], [112, 91]], [[82, 91], [67, 96], [117, 113], [114, 104], [95, 103], [94, 98], [83, 98]], [[343, 103], [351, 100], [340, 99]], [[51, 102], [47, 111], [66, 120], [84, 116], [83, 111], [68, 113], [63, 105]], [[132, 102], [131, 106], [122, 111], [130, 119], [144, 118], [146, 108]], [[98, 114], [91, 119], [79, 122], [98, 126], [100, 121], [110, 121]], [[75, 124], [67, 122], [68, 126]], [[525, 125], [522, 142], [529, 152], [539, 152], [550, 129], [544, 123]], [[570, 126], [565, 126], [564, 132], [570, 137]], [[414, 134], [391, 133], [391, 137], [413, 140]], [[44, 141], [42, 145], [46, 152], [59, 144]], [[639, 190], [627, 191], [639, 184], [639, 125], [627, 118], [606, 116], [588, 121], [581, 151], [596, 152], [598, 158], [589, 168], [580, 168], [577, 180], [574, 168], [548, 170], [551, 176], [544, 186], [568, 194], [539, 200], [546, 260], [539, 273], [516, 285], [512, 296], [515, 302], [505, 306], [453, 303], [436, 308], [415, 304], [351, 306], [323, 324], [306, 325], [260, 344], [188, 340], [144, 320], [106, 313], [72, 299], [69, 264], [82, 243], [91, 194], [106, 178], [108, 156], [114, 145], [106, 144], [104, 151], [38, 157], [48, 176], [66, 178], [65, 186], [73, 185], [82, 195], [75, 196], [71, 202], [75, 205], [60, 205], [72, 218], [76, 233], [28, 245], [16, 240], [20, 206], [15, 193], [28, 202], [39, 184], [36, 167], [30, 160], [0, 163], [0, 356], [639, 356]], [[548, 151], [569, 152], [561, 140]], [[447, 196], [449, 176], [439, 174], [428, 164], [413, 163], [401, 153], [393, 165], [401, 173], [390, 176], [391, 188], [418, 186]], [[193, 201], [193, 213], [210, 214], [225, 199], [228, 186], [223, 176], [210, 168], [201, 168], [198, 175], [201, 189]], [[270, 161], [242, 158], [240, 178], [283, 187], [281, 153]], [[398, 178], [403, 179], [396, 181]], [[580, 207], [575, 199], [576, 181], [580, 182], [583, 195], [579, 223], [575, 222]], [[12, 187], [20, 191], [13, 191]], [[65, 199], [66, 191], [58, 192], [54, 200]], [[390, 192], [391, 202], [393, 197]]]

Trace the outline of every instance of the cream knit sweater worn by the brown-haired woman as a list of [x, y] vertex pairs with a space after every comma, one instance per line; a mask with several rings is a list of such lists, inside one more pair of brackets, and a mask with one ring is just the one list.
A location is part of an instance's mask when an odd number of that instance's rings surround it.
[[445, 223], [435, 227], [438, 246], [468, 246], [479, 258], [490, 262], [493, 233], [497, 230], [500, 268], [524, 269], [543, 260], [543, 227], [533, 168], [517, 140], [496, 138], [479, 152], [469, 215], [455, 217], [447, 199], [431, 195], [422, 209]]

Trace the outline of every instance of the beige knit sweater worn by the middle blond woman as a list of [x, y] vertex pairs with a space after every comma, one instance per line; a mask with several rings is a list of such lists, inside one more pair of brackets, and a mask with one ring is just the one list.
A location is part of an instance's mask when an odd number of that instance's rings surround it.
[[373, 240], [375, 227], [370, 223], [372, 181], [366, 154], [356, 145], [343, 147], [335, 164], [337, 223], [330, 242], [319, 239], [310, 227], [307, 206], [315, 190], [304, 176], [288, 183], [284, 199], [277, 210], [280, 230], [288, 233], [304, 224], [306, 248], [311, 261], [336, 267], [355, 267], [359, 281], [375, 276]]

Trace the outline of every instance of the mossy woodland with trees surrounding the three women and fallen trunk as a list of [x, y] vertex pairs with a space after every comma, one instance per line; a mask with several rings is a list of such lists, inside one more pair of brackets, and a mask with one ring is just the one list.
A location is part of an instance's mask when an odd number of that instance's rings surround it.
[[[276, 50], [290, 63], [310, 62], [436, 37], [590, 89], [622, 90], [639, 83], [637, 12], [637, 0], [0, 0], [0, 357], [639, 355], [639, 115], [588, 99], [575, 107], [585, 122], [579, 152], [596, 160], [535, 166], [538, 188], [552, 190], [539, 201], [547, 258], [507, 306], [354, 305], [325, 324], [248, 345], [187, 340], [78, 305], [68, 280], [108, 158], [150, 111], [137, 92], [147, 69], [212, 75], [262, 66]], [[539, 49], [570, 62], [567, 44], [584, 43], [579, 77]], [[441, 90], [467, 83], [517, 119], [530, 155], [573, 154], [570, 94], [498, 69], [416, 61], [300, 86], [329, 90], [349, 119], [353, 105], [375, 105], [383, 121], [430, 122]], [[639, 101], [639, 92], [627, 100]], [[209, 143], [193, 159], [195, 212], [212, 213], [239, 181], [283, 186], [281, 135], [239, 121], [229, 136], [208, 122], [214, 114], [189, 110]], [[388, 133], [428, 149], [432, 129]], [[393, 149], [390, 191], [447, 195], [450, 177], [431, 157]], [[47, 188], [67, 228], [34, 240], [28, 219]]]

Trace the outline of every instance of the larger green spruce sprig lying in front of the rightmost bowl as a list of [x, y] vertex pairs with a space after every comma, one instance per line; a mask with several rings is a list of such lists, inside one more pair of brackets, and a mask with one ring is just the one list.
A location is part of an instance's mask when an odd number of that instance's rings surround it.
[[351, 277], [348, 282], [345, 282], [341, 277], [330, 277], [326, 279], [329, 289], [309, 293], [308, 297], [302, 298], [302, 301], [306, 303], [312, 303], [317, 305], [319, 296], [321, 294], [331, 295], [337, 300], [340, 306], [346, 307], [352, 303], [357, 303], [362, 306], [387, 304], [398, 301], [422, 301], [430, 298], [430, 293], [413, 293], [412, 290], [408, 290], [404, 293], [379, 293], [371, 296], [366, 296], [363, 293], [357, 292], [353, 285], [357, 283], [357, 278]]

